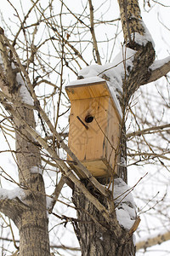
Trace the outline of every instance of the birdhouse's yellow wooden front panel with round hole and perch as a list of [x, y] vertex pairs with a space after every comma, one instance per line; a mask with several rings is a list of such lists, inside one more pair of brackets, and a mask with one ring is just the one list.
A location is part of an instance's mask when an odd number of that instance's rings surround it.
[[[69, 147], [79, 160], [105, 158], [109, 97], [98, 97], [71, 102]], [[88, 116], [93, 120], [86, 122]]]

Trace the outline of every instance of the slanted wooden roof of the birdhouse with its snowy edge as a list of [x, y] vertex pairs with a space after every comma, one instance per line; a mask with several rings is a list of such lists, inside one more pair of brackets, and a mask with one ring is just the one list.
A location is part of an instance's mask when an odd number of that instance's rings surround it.
[[122, 120], [122, 110], [115, 91], [105, 79], [100, 79], [99, 77], [79, 79], [67, 84], [65, 90], [71, 101], [110, 96], [113, 107], [116, 109], [119, 119]]

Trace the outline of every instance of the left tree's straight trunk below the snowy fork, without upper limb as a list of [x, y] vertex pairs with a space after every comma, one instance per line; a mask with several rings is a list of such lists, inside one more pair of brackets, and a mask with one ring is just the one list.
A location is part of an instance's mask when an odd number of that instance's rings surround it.
[[[35, 129], [33, 111], [16, 108], [22, 119]], [[20, 183], [26, 187], [24, 203], [27, 209], [19, 214], [15, 224], [20, 231], [20, 255], [50, 255], [46, 194], [42, 179], [41, 158], [36, 142], [14, 119], [16, 129], [16, 158]], [[34, 173], [35, 172], [35, 173]], [[37, 172], [37, 173], [36, 173]], [[38, 173], [40, 172], [40, 173]]]

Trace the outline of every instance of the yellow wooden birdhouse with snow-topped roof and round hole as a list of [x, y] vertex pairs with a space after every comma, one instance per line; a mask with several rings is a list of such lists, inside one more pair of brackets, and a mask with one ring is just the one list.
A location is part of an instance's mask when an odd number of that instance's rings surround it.
[[[107, 82], [98, 78], [77, 80], [65, 90], [71, 100], [71, 151], [94, 177], [111, 177], [117, 172], [122, 120], [116, 97]], [[68, 155], [67, 159], [71, 157]], [[81, 170], [76, 172], [84, 177]]]

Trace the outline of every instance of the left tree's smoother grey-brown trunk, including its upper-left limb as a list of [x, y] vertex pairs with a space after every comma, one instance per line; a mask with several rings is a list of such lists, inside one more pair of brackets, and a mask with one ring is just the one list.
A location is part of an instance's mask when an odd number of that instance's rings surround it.
[[[0, 33], [0, 48], [3, 56], [3, 68], [1, 67], [1, 87], [8, 93], [12, 100], [22, 102], [20, 96], [20, 84], [16, 80], [16, 70], [11, 66], [12, 55], [8, 56], [8, 39]], [[7, 41], [7, 42], [6, 42]], [[17, 71], [19, 72], [19, 71]], [[7, 105], [6, 105], [7, 106]], [[9, 108], [7, 111], [10, 113]], [[15, 113], [20, 119], [26, 121], [33, 129], [36, 129], [34, 113], [26, 107], [14, 107]], [[48, 216], [46, 207], [46, 194], [42, 178], [41, 156], [35, 139], [26, 131], [20, 120], [11, 115], [14, 122], [16, 160], [19, 173], [20, 187], [24, 188], [22, 202], [15, 207], [14, 199], [8, 202], [11, 212], [0, 204], [1, 211], [14, 220], [14, 224], [20, 232], [20, 256], [48, 256], [50, 255], [48, 240]], [[34, 172], [36, 168], [37, 172]], [[10, 204], [9, 204], [10, 203]], [[25, 207], [22, 207], [22, 204]], [[13, 208], [14, 205], [14, 208]], [[14, 214], [13, 214], [14, 212]]]

